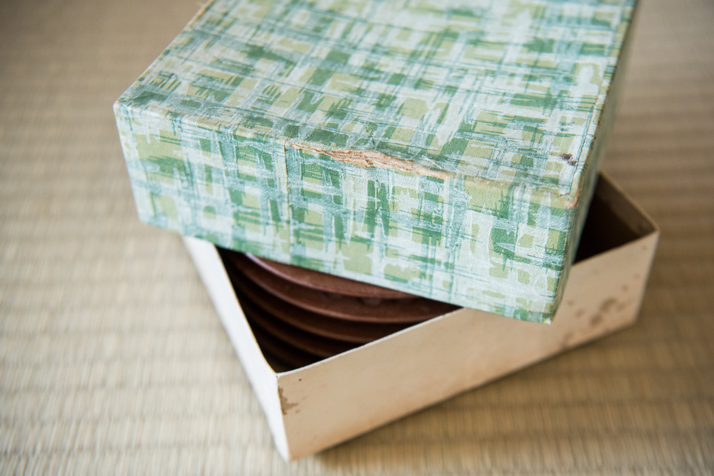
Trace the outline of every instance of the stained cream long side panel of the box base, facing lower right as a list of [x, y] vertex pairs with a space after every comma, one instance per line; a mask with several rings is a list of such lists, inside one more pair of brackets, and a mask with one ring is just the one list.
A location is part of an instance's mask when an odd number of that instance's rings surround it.
[[291, 459], [633, 324], [657, 239], [576, 264], [550, 326], [460, 309], [278, 375]]

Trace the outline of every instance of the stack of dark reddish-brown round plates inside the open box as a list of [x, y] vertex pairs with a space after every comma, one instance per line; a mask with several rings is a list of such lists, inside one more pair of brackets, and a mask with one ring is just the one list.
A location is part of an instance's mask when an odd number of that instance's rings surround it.
[[298, 368], [457, 309], [404, 294], [221, 249], [258, 344]]

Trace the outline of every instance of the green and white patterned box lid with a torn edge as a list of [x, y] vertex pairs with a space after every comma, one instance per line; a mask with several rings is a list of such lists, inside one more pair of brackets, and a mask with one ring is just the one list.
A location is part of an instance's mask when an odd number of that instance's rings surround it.
[[548, 322], [633, 6], [213, 1], [114, 105], [139, 217]]

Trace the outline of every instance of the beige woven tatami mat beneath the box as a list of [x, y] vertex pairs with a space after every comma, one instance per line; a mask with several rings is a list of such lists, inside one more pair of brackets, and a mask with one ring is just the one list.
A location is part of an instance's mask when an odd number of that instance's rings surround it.
[[662, 227], [633, 328], [283, 462], [111, 103], [199, 5], [0, 3], [0, 472], [714, 472], [714, 3], [642, 0], [604, 169]]

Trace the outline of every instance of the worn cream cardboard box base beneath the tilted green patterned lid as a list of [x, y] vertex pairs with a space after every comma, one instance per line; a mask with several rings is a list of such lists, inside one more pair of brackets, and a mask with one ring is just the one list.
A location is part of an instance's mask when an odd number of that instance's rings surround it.
[[[458, 309], [292, 371], [266, 361], [216, 247], [184, 239], [258, 395], [276, 447], [293, 460], [635, 321], [659, 232], [607, 177], [553, 324]], [[587, 257], [589, 255], [589, 257]]]

